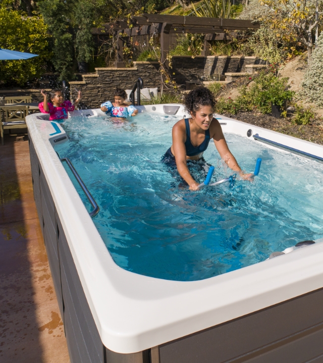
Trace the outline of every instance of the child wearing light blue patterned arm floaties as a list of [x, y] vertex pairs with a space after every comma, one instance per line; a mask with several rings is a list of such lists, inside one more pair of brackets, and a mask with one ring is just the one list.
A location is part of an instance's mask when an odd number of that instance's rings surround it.
[[101, 105], [101, 111], [105, 112], [105, 114], [110, 114], [112, 117], [127, 118], [128, 116], [136, 116], [138, 114], [138, 110], [132, 105], [128, 106], [125, 103], [126, 98], [126, 91], [117, 87], [115, 90], [115, 102], [103, 102]]

